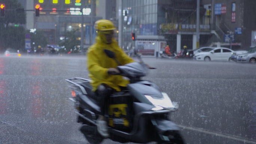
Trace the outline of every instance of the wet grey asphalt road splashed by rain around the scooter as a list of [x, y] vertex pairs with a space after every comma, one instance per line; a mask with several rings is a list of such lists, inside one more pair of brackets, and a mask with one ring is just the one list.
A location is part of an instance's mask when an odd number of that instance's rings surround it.
[[[256, 144], [256, 65], [144, 58], [187, 144]], [[85, 57], [0, 57], [0, 144], [86, 144], [65, 79]], [[104, 140], [104, 144], [115, 143]]]

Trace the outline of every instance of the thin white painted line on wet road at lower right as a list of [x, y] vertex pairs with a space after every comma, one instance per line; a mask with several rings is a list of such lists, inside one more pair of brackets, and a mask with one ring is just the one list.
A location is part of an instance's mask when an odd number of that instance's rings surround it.
[[205, 134], [214, 135], [214, 136], [217, 136], [217, 137], [228, 138], [228, 139], [237, 140], [237, 141], [241, 141], [241, 142], [249, 143], [249, 144], [256, 144], [255, 141], [249, 141], [249, 140], [245, 140], [243, 138], [237, 138], [237, 137], [234, 137], [234, 136], [231, 136], [231, 135], [228, 135], [228, 134], [227, 135], [223, 135], [223, 134], [218, 134], [216, 132], [209, 132], [209, 131], [206, 131], [206, 130], [202, 130], [200, 128], [191, 128], [191, 127], [182, 126], [182, 125], [178, 125], [178, 126], [180, 128], [189, 129], [189, 130], [192, 130], [192, 131], [198, 131], [198, 132], [202, 132], [202, 133], [205, 133]]

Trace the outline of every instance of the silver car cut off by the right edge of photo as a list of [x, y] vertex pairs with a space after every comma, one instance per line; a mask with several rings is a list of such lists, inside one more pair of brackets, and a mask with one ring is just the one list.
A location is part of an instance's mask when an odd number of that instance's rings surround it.
[[237, 62], [256, 63], [256, 48], [249, 50], [247, 53], [237, 56]]

